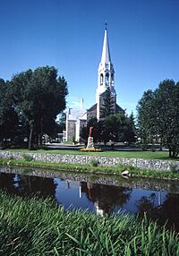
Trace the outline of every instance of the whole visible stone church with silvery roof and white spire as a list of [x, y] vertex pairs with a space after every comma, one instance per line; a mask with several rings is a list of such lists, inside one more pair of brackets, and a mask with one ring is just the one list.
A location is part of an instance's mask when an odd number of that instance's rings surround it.
[[100, 113], [104, 105], [104, 98], [106, 97], [107, 89], [110, 90], [113, 98], [114, 113], [124, 113], [124, 109], [116, 104], [115, 69], [111, 61], [106, 28], [101, 61], [98, 65], [96, 103], [86, 111], [83, 109], [83, 104], [81, 104], [81, 109], [79, 110], [72, 108], [66, 109], [66, 129], [64, 132], [64, 141], [72, 141], [72, 138], [75, 138], [75, 141], [81, 141], [81, 129], [87, 125], [90, 118], [96, 117], [98, 120], [100, 120]]

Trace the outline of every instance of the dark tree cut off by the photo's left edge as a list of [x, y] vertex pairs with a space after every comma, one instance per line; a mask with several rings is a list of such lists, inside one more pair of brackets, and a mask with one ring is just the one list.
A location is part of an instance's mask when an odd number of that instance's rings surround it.
[[13, 139], [18, 125], [14, 108], [13, 89], [9, 81], [0, 79], [0, 145], [4, 148], [7, 139]]

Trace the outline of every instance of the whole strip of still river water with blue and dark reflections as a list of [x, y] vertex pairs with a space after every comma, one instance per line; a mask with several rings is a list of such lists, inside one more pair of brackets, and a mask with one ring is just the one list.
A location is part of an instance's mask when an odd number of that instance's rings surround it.
[[[178, 183], [169, 183], [168, 192], [138, 189], [136, 185], [131, 188], [124, 186], [106, 185], [100, 183], [67, 180], [66, 178], [53, 179], [30, 175], [5, 174], [0, 172], [0, 190], [21, 196], [52, 197], [58, 204], [64, 202], [74, 208], [84, 209], [92, 205], [101, 216], [126, 209], [127, 212], [143, 217], [144, 212], [150, 219], [158, 220], [160, 224], [174, 227], [179, 231], [179, 186]], [[139, 186], [141, 187], [141, 186]], [[58, 190], [59, 189], [59, 190]], [[58, 194], [56, 191], [58, 190]], [[87, 200], [86, 200], [87, 199]], [[61, 203], [62, 202], [62, 203]], [[93, 207], [94, 206], [94, 207]]]

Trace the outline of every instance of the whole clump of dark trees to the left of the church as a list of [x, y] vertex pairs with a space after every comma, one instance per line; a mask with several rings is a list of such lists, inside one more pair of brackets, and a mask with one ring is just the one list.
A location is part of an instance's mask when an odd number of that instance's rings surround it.
[[56, 115], [66, 106], [68, 94], [64, 76], [54, 66], [38, 67], [13, 75], [11, 81], [0, 79], [0, 146], [8, 141], [23, 143], [29, 149], [42, 145], [44, 134], [56, 133]]

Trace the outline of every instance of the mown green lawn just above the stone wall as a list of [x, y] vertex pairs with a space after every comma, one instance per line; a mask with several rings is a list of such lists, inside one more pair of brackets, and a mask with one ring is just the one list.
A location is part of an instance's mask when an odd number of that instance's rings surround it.
[[49, 154], [61, 154], [61, 155], [88, 155], [88, 156], [99, 156], [99, 157], [112, 157], [112, 158], [147, 158], [147, 159], [166, 159], [169, 160], [168, 151], [103, 151], [103, 152], [81, 152], [72, 149], [38, 149], [38, 150], [28, 150], [28, 149], [7, 149], [10, 151], [21, 151], [24, 153], [34, 152], [34, 153], [49, 153]]

